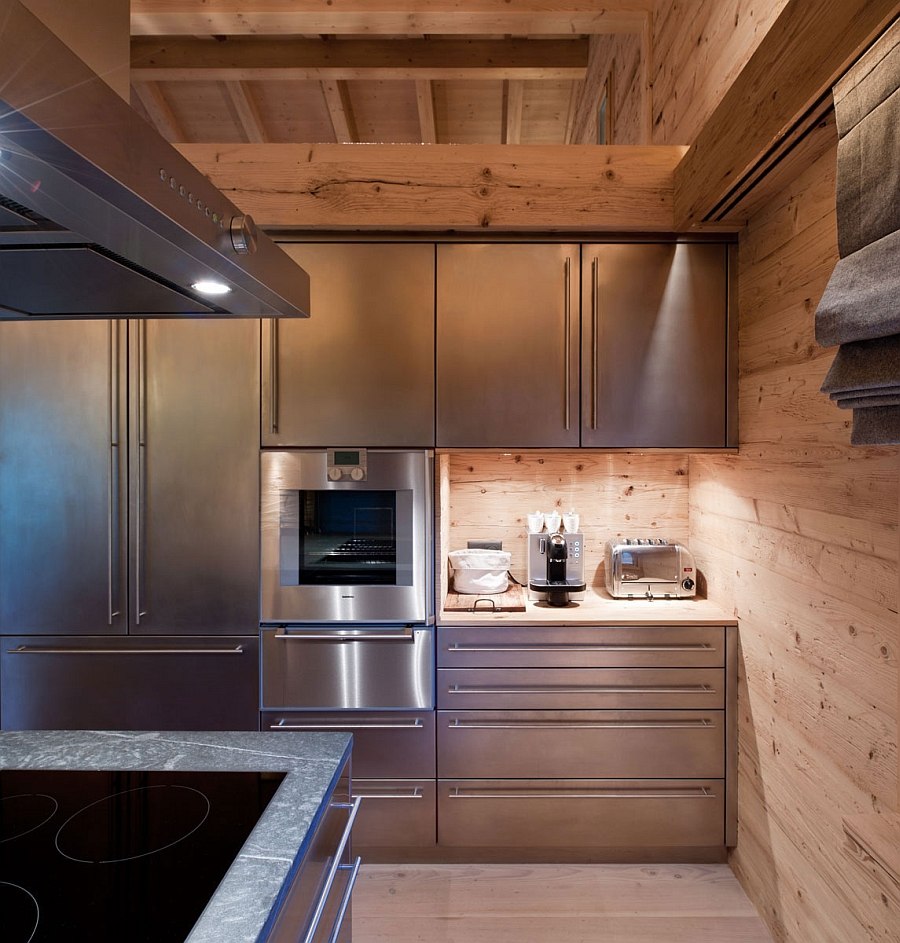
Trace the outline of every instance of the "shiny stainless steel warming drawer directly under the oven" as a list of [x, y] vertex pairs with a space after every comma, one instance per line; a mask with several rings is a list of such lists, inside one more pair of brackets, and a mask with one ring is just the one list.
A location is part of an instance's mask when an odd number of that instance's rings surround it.
[[430, 627], [262, 631], [263, 710], [422, 710], [434, 706]]

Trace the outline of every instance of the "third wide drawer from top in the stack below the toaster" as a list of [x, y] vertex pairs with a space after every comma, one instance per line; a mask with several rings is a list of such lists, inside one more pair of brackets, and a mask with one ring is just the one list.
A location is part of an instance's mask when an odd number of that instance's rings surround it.
[[725, 775], [722, 711], [439, 711], [442, 777]]

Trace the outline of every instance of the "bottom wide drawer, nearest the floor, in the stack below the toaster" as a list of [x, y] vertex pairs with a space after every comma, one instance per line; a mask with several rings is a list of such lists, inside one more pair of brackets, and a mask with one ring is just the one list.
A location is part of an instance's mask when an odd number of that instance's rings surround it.
[[724, 842], [721, 780], [439, 780], [438, 845], [667, 848]]

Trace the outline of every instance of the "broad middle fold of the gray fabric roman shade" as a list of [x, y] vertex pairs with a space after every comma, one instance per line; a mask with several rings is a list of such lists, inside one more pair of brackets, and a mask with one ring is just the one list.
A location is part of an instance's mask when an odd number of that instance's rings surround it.
[[900, 231], [839, 259], [816, 309], [816, 340], [822, 347], [897, 333]]

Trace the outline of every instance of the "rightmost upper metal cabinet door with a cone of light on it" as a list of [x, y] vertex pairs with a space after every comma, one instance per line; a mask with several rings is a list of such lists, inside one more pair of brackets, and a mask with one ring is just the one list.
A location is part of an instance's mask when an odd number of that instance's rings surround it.
[[727, 312], [724, 245], [585, 246], [581, 444], [725, 446]]

